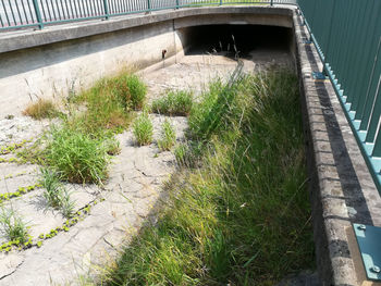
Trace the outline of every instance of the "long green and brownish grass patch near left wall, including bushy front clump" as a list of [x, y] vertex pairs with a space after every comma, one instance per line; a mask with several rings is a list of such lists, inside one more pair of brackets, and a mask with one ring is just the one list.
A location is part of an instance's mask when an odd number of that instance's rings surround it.
[[19, 158], [48, 165], [62, 181], [101, 184], [108, 177], [109, 156], [120, 152], [114, 134], [128, 126], [146, 91], [139, 77], [122, 72], [78, 95], [70, 92], [62, 124], [20, 151]]

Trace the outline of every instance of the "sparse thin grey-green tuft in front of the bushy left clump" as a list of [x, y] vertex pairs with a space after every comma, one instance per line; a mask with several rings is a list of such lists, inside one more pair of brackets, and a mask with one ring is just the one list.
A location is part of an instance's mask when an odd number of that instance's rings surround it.
[[57, 172], [49, 169], [41, 169], [40, 184], [44, 186], [44, 198], [48, 206], [60, 210], [62, 215], [71, 217], [74, 213], [74, 202], [70, 198], [69, 191], [63, 187]]

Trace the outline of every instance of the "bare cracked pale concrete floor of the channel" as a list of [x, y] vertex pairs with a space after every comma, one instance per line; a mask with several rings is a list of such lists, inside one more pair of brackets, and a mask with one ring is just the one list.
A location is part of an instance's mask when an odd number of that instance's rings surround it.
[[[287, 53], [257, 52], [244, 60], [245, 72], [268, 69], [272, 64], [292, 66]], [[164, 64], [164, 63], [163, 63]], [[198, 97], [208, 83], [218, 77], [226, 80], [236, 62], [220, 54], [186, 55], [179, 63], [150, 73], [142, 73], [148, 85], [148, 101], [171, 89], [193, 90]], [[159, 152], [156, 140], [167, 119], [150, 114], [153, 142], [137, 147], [132, 130], [118, 135], [121, 153], [110, 166], [110, 177], [102, 188], [95, 185], [67, 184], [66, 188], [79, 211], [70, 227], [57, 211], [47, 209], [44, 189], [38, 186], [39, 166], [14, 162], [14, 153], [0, 156], [0, 194], [26, 194], [11, 198], [4, 207], [14, 209], [37, 239], [48, 234], [40, 247], [0, 253], [0, 285], [76, 285], [81, 277], [96, 275], [118, 257], [122, 244], [128, 243], [143, 223], [155, 217], [156, 206], [164, 196], [163, 182], [175, 172], [173, 153]], [[169, 119], [176, 130], [176, 140], [184, 139], [186, 117]], [[52, 122], [36, 122], [25, 116], [0, 120], [0, 147], [11, 144], [32, 144]], [[52, 229], [59, 229], [57, 233]], [[60, 231], [61, 229], [61, 231]], [[0, 237], [0, 243], [4, 238]]]

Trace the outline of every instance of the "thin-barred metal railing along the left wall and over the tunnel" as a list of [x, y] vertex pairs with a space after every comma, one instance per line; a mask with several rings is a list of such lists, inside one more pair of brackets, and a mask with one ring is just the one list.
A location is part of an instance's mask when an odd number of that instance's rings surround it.
[[185, 7], [278, 3], [296, 0], [0, 0], [0, 32]]

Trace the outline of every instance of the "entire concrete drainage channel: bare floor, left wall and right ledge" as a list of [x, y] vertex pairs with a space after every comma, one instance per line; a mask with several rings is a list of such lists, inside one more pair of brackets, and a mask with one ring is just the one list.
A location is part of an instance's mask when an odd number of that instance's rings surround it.
[[[261, 37], [271, 39], [271, 35], [278, 35], [282, 45], [275, 41], [261, 48], [256, 46], [255, 39], [228, 42], [229, 39], [224, 48], [217, 43], [204, 55], [192, 47], [192, 42], [208, 38], [200, 36], [202, 30], [213, 34], [219, 29], [232, 29], [234, 34], [241, 28], [247, 34], [255, 29], [259, 33], [258, 26], [250, 29], [248, 24], [278, 27], [267, 28]], [[234, 45], [238, 50], [239, 46], [254, 45], [257, 49], [247, 49], [242, 54], [246, 71], [278, 63], [295, 65], [299, 74], [321, 285], [362, 285], [366, 278], [351, 223], [381, 226], [381, 200], [331, 84], [311, 76], [312, 72], [321, 71], [322, 65], [315, 47], [305, 43], [307, 37], [296, 11], [265, 7], [162, 11], [127, 20], [2, 35], [0, 60], [4, 64], [0, 66], [3, 91], [0, 115], [15, 117], [1, 120], [1, 146], [16, 139], [33, 139], [49, 125], [49, 122], [36, 125], [20, 116], [30, 97], [79, 90], [125, 65], [150, 66], [140, 72], [149, 86], [150, 99], [171, 88], [193, 88], [197, 94], [210, 78], [224, 77], [234, 70], [235, 62], [225, 57], [234, 50]], [[205, 47], [200, 49], [205, 51]], [[266, 52], [269, 49], [271, 53]], [[163, 120], [161, 115], [152, 116], [156, 134]], [[176, 127], [177, 140], [182, 140], [186, 120], [171, 120]], [[71, 186], [77, 194], [76, 208], [91, 207], [88, 215], [73, 224], [67, 234], [59, 233], [47, 240], [40, 249], [1, 254], [0, 285], [49, 285], [73, 281], [91, 266], [107, 262], [105, 253], [112, 259], [125, 239], [125, 233], [130, 232], [132, 236], [144, 220], [155, 216], [155, 206], [164, 195], [160, 186], [174, 170], [174, 157], [170, 152], [156, 157], [156, 146], [136, 148], [131, 132], [121, 134], [119, 140], [122, 152], [112, 166], [113, 175], [106, 190], [95, 186], [86, 189]], [[11, 158], [11, 154], [4, 157]], [[23, 183], [27, 187], [36, 181], [37, 166], [9, 162], [0, 164], [0, 194], [7, 192], [10, 186], [20, 187]], [[115, 189], [119, 191], [111, 191]], [[38, 197], [39, 191], [37, 188], [15, 203], [30, 217], [34, 217], [33, 208], [38, 204], [33, 198]], [[45, 223], [45, 216], [50, 217], [49, 223]], [[38, 217], [40, 226], [35, 229], [36, 236], [64, 223], [54, 213]], [[297, 281], [291, 278], [284, 285]], [[309, 278], [302, 281], [302, 285], [315, 283]]]

